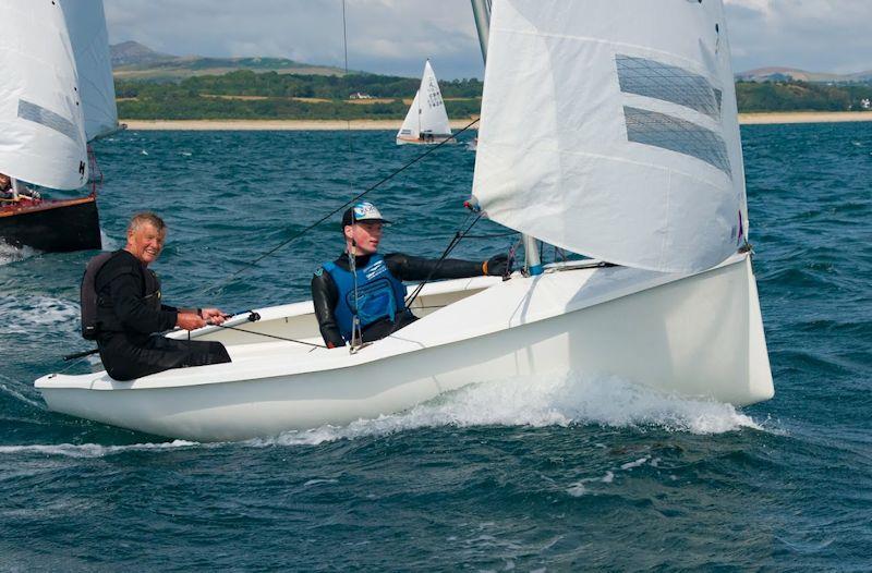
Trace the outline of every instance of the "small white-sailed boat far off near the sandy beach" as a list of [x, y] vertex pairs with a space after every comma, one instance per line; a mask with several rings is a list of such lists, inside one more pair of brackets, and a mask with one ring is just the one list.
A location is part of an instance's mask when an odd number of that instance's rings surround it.
[[421, 87], [415, 92], [415, 98], [400, 131], [397, 132], [397, 145], [404, 144], [437, 144], [452, 139], [451, 126], [448, 124], [448, 113], [445, 111], [443, 94], [439, 92], [439, 82], [429, 65], [429, 60], [424, 64], [424, 75], [421, 77]]

